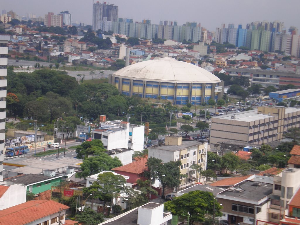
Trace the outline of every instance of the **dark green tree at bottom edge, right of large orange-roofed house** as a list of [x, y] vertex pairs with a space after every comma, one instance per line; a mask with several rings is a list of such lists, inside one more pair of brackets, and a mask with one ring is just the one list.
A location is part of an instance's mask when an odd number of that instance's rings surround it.
[[104, 221], [104, 216], [91, 208], [85, 208], [84, 211], [76, 215], [75, 219], [78, 221], [76, 225], [97, 225]]

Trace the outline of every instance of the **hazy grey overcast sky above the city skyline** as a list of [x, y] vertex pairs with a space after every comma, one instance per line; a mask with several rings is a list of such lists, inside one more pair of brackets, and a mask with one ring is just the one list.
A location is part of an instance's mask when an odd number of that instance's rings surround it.
[[[234, 23], [235, 28], [242, 24], [245, 28], [250, 22], [279, 20], [284, 22], [286, 29], [300, 27], [300, 0], [111, 0], [107, 3], [119, 7], [119, 18], [139, 22], [151, 19], [154, 24], [159, 24], [160, 20], [177, 21], [178, 25], [200, 22], [202, 27], [215, 30], [221, 23], [226, 27], [228, 23]], [[0, 13], [4, 9], [13, 10], [19, 16], [33, 13], [44, 17], [48, 12], [69, 11], [73, 22], [85, 24], [92, 22], [92, 8], [92, 0], [0, 0]]]

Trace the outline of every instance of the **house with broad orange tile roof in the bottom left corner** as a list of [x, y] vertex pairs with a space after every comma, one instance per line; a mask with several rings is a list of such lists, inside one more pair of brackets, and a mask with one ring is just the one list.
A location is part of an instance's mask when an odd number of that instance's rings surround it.
[[1, 225], [65, 224], [67, 205], [52, 200], [33, 200], [1, 210]]

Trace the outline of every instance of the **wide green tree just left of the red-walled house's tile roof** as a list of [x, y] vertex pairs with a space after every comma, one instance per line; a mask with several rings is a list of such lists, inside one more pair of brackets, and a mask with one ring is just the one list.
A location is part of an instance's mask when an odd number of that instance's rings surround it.
[[122, 163], [117, 157], [111, 158], [106, 153], [100, 152], [98, 156], [84, 159], [80, 165], [82, 172], [76, 173], [76, 176], [80, 178], [87, 177], [120, 166], [122, 166]]

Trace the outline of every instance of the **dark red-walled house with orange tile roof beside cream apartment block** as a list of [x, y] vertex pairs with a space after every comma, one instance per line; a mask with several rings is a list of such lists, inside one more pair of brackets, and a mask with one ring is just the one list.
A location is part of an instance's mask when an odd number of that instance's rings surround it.
[[144, 172], [149, 171], [148, 167], [146, 166], [147, 160], [147, 158], [144, 158], [122, 167], [113, 168], [112, 170], [118, 174], [129, 176], [127, 183], [132, 184], [132, 187], [134, 187], [137, 185], [138, 179], [146, 179], [144, 177]]

